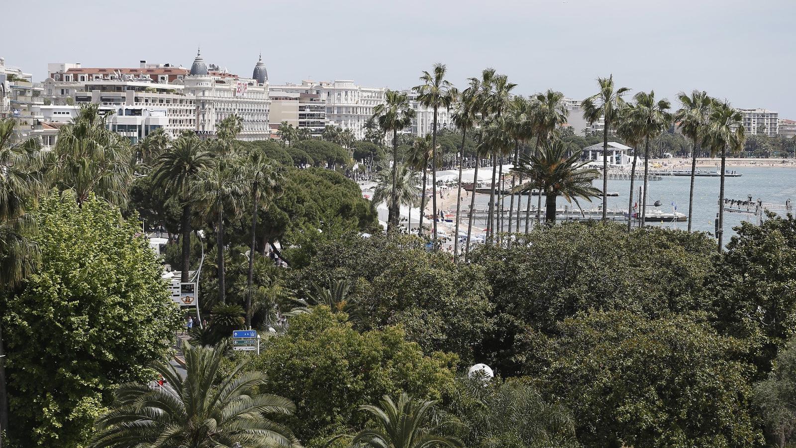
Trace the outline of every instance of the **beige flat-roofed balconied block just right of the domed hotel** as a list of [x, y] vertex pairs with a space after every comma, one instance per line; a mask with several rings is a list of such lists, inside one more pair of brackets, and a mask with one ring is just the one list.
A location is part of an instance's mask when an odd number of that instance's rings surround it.
[[309, 129], [314, 137], [320, 137], [326, 126], [326, 102], [317, 93], [283, 92], [271, 88], [269, 122], [271, 132], [279, 129], [283, 122], [294, 128]]

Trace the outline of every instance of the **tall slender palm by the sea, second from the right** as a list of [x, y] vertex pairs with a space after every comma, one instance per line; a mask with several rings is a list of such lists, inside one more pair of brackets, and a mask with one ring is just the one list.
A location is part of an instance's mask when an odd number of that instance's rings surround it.
[[674, 120], [679, 123], [680, 131], [694, 143], [691, 151], [691, 187], [689, 187], [689, 232], [693, 220], [694, 204], [694, 178], [696, 177], [696, 153], [699, 151], [702, 132], [708, 124], [710, 108], [713, 100], [708, 92], [694, 90], [691, 95], [685, 92], [677, 94], [677, 100], [683, 105], [674, 115]]

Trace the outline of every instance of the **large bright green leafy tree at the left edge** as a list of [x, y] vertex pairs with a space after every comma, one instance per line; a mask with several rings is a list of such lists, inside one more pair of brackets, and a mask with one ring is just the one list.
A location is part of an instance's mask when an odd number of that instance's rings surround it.
[[115, 386], [149, 379], [180, 325], [140, 224], [68, 199], [35, 212], [41, 265], [2, 304], [7, 428], [23, 446], [83, 446]]

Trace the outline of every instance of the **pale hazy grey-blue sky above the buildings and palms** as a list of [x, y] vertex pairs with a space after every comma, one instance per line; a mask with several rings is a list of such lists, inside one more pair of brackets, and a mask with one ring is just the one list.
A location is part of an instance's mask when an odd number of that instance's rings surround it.
[[[447, 64], [457, 85], [486, 67], [515, 92], [583, 98], [595, 77], [655, 89], [707, 90], [737, 107], [796, 119], [794, 0], [4, 0], [0, 56], [37, 81], [48, 62], [189, 67], [250, 76], [259, 51], [271, 84], [353, 79], [408, 88]], [[675, 106], [677, 104], [674, 104]]]

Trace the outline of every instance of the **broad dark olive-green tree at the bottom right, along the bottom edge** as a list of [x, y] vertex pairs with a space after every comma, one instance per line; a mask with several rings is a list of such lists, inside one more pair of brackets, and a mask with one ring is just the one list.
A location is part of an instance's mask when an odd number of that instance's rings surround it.
[[[545, 345], [543, 340], [537, 344]], [[585, 446], [760, 446], [739, 340], [699, 315], [591, 312], [564, 320], [541, 371]], [[542, 350], [544, 352], [544, 349]]]

